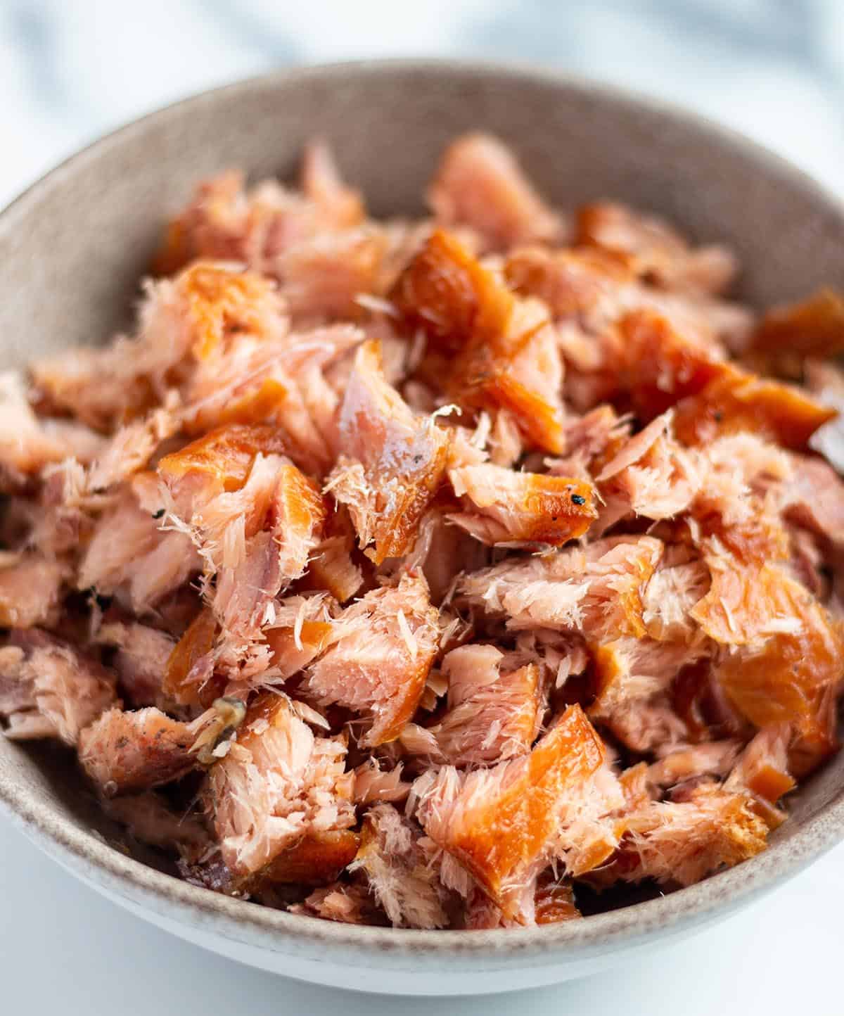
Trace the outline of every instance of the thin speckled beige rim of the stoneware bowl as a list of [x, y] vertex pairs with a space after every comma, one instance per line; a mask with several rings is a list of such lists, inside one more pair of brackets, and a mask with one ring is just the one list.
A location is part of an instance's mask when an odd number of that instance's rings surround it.
[[[394, 73], [449, 74], [471, 79], [534, 83], [566, 93], [597, 96], [616, 107], [645, 110], [699, 135], [713, 144], [733, 149], [751, 158], [791, 187], [797, 188], [842, 220], [844, 202], [798, 167], [740, 132], [706, 116], [649, 94], [593, 80], [553, 68], [513, 62], [460, 59], [379, 59], [341, 61], [289, 67], [251, 76], [234, 83], [205, 89], [144, 114], [99, 137], [48, 171], [20, 192], [0, 211], [0, 230], [15, 223], [37, 205], [43, 193], [60, 188], [65, 176], [141, 130], [150, 121], [161, 122], [183, 111], [213, 105], [221, 98], [278, 90], [307, 84], [359, 77], [389, 77]], [[561, 960], [611, 951], [656, 933], [678, 932], [726, 915], [731, 909], [780, 881], [784, 881], [844, 839], [844, 788], [823, 808], [804, 819], [790, 837], [774, 843], [763, 853], [727, 871], [666, 896], [634, 903], [618, 910], [593, 914], [581, 920], [531, 929], [494, 929], [466, 934], [455, 930], [407, 930], [335, 924], [251, 904], [191, 885], [148, 867], [110, 846], [93, 830], [68, 819], [37, 788], [13, 776], [0, 775], [0, 811], [64, 867], [127, 902], [141, 904], [163, 917], [178, 916], [194, 927], [209, 923], [214, 932], [246, 945], [280, 953], [311, 954], [314, 947], [330, 948], [334, 955], [345, 951], [359, 965], [378, 966], [389, 957], [408, 956], [414, 961], [428, 957], [442, 962], [446, 956], [466, 961], [478, 969], [485, 959], [495, 964], [516, 958], [520, 965], [532, 959], [547, 962], [550, 954]], [[565, 954], [565, 955], [564, 955]], [[376, 957], [379, 961], [376, 962]], [[393, 962], [395, 962], [394, 960]]]

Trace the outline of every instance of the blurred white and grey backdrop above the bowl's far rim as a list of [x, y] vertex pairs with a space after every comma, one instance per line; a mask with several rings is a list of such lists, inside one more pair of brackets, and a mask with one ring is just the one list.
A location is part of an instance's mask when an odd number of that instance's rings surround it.
[[0, 0], [0, 201], [127, 120], [273, 67], [545, 64], [727, 123], [837, 186], [841, 0]]

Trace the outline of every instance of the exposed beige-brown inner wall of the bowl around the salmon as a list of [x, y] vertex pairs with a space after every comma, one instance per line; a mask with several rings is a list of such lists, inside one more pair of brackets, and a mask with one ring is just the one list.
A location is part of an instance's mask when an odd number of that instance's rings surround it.
[[[147, 117], [74, 156], [7, 209], [0, 216], [0, 367], [100, 342], [124, 326], [166, 214], [199, 178], [232, 167], [250, 179], [287, 178], [303, 143], [320, 134], [376, 214], [415, 214], [441, 150], [470, 129], [503, 137], [560, 205], [613, 197], [669, 216], [700, 241], [729, 244], [752, 303], [844, 285], [841, 209], [776, 156], [710, 124], [592, 85], [500, 68], [313, 68]], [[804, 827], [836, 800], [841, 810], [842, 785], [844, 755], [793, 796], [792, 818], [774, 834], [779, 845], [765, 863], [767, 879], [839, 834], [840, 815], [834, 828], [821, 823], [806, 836]], [[122, 842], [69, 756], [52, 747], [0, 738], [0, 797], [30, 820], [49, 814], [56, 828], [93, 828]], [[151, 853], [141, 860], [156, 863]], [[750, 874], [755, 864], [742, 867]], [[699, 889], [684, 891], [693, 909], [703, 899]]]

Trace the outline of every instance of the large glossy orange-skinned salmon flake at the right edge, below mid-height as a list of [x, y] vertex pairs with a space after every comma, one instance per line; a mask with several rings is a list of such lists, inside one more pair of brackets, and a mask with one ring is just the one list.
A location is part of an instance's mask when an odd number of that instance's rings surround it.
[[840, 626], [799, 582], [768, 569], [759, 611], [767, 637], [719, 658], [716, 678], [732, 706], [756, 726], [816, 723], [844, 664]]

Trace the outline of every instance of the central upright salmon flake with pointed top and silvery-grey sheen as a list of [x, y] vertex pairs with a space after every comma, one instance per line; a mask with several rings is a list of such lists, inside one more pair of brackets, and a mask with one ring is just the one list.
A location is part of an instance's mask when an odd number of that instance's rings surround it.
[[337, 429], [339, 457], [326, 490], [348, 507], [362, 549], [381, 564], [412, 546], [445, 473], [448, 435], [387, 384], [375, 342], [355, 356]]

